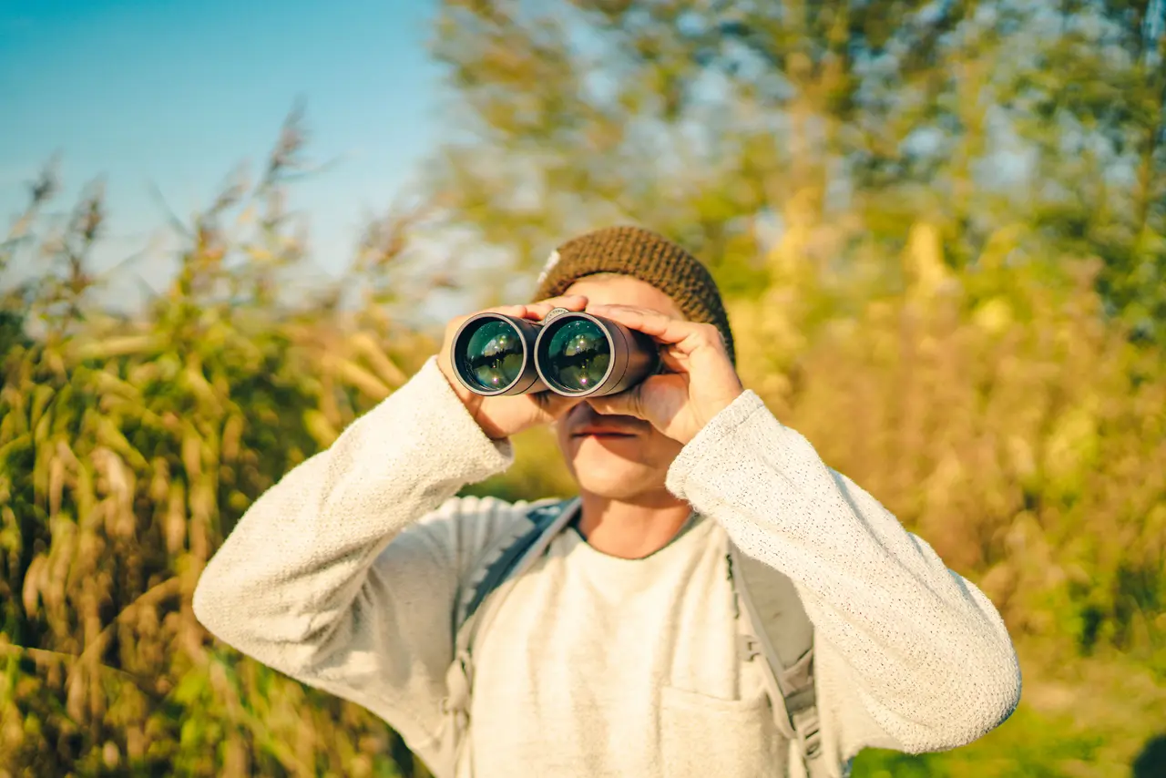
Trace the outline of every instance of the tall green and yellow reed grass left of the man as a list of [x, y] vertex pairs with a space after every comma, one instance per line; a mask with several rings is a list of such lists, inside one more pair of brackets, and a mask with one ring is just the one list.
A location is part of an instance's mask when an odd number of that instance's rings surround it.
[[384, 302], [387, 234], [281, 307], [302, 255], [283, 210], [300, 145], [292, 121], [258, 183], [183, 227], [178, 273], [141, 316], [93, 303], [98, 190], [36, 234], [45, 177], [5, 244], [6, 262], [47, 271], [5, 303], [0, 775], [412, 772], [381, 722], [212, 643], [190, 605], [251, 502], [428, 350], [374, 307], [338, 307], [353, 287]]

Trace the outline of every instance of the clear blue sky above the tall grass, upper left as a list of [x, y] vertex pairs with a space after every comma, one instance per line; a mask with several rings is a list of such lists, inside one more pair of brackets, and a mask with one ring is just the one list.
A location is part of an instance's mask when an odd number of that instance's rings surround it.
[[[336, 160], [296, 185], [315, 261], [337, 271], [365, 215], [408, 191], [441, 134], [441, 73], [427, 0], [0, 0], [2, 231], [51, 154], [70, 202], [105, 175], [98, 265], [163, 226], [153, 195], [188, 217], [226, 174], [258, 170], [297, 98], [309, 156]], [[156, 268], [139, 268], [156, 282]]]

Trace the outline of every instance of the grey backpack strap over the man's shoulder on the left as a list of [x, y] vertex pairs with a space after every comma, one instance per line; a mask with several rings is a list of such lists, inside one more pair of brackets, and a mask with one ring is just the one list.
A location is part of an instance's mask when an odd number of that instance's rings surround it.
[[[536, 503], [527, 511], [527, 524], [494, 546], [491, 561], [471, 580], [464, 604], [455, 608], [454, 661], [445, 673], [448, 695], [441, 712], [449, 727], [442, 743], [442, 775], [454, 776], [465, 750], [470, 728], [470, 699], [473, 689], [473, 640], [498, 612], [513, 581], [534, 566], [564, 526], [575, 516], [578, 498]], [[489, 558], [487, 558], [489, 559]], [[498, 593], [498, 596], [491, 595]]]

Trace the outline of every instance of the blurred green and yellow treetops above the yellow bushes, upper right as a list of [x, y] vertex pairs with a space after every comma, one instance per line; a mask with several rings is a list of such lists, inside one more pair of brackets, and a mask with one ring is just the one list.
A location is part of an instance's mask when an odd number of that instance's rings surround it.
[[1160, 342], [1164, 16], [1096, 0], [445, 0], [433, 50], [463, 133], [433, 185], [468, 250], [510, 267], [633, 220], [733, 295], [764, 286], [770, 233], [807, 220], [838, 227], [815, 253], [843, 273], [885, 262], [919, 217], [954, 267], [1024, 224], [1009, 262], [1100, 258], [1108, 311]]

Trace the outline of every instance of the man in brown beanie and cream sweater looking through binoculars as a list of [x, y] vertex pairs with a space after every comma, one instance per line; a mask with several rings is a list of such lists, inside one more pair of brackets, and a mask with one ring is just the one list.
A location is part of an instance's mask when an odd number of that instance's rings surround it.
[[[996, 609], [742, 387], [696, 259], [600, 230], [559, 247], [536, 299], [496, 310], [612, 318], [651, 335], [667, 371], [586, 401], [483, 398], [454, 377], [452, 322], [407, 385], [255, 502], [202, 577], [198, 618], [374, 712], [443, 777], [794, 775], [735, 639], [731, 540], [794, 581], [813, 623], [830, 775], [864, 747], [950, 749], [1009, 716], [1020, 673]], [[479, 636], [455, 754], [455, 615], [529, 506], [454, 495], [540, 423], [581, 509]]]

